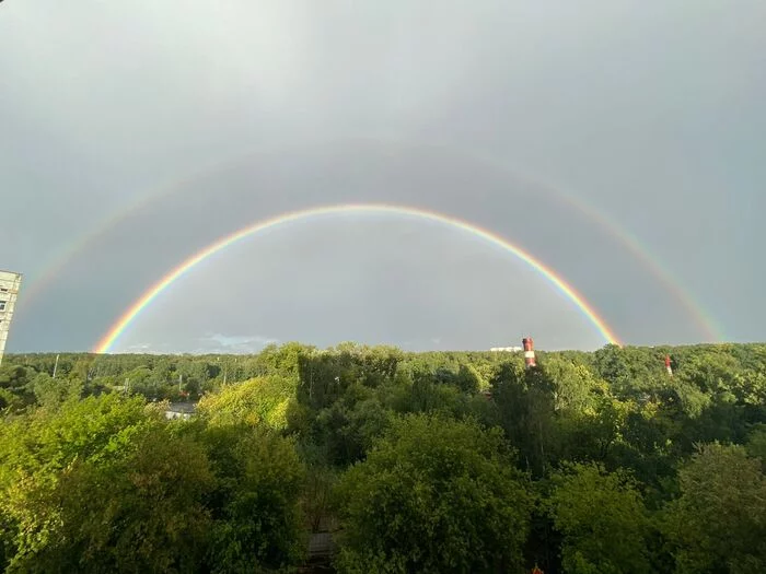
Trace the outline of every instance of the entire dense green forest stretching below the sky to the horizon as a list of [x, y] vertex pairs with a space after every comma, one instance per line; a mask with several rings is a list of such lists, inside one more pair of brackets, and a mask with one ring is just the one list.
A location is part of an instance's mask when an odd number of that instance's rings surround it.
[[9, 355], [0, 571], [766, 572], [766, 344], [537, 362]]

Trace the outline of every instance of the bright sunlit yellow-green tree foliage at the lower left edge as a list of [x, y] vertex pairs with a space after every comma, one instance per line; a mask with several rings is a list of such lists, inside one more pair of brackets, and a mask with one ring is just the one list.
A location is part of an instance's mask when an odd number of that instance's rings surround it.
[[12, 525], [5, 537], [12, 566], [61, 538], [63, 515], [55, 501], [62, 478], [79, 464], [108, 465], [135, 452], [135, 437], [150, 424], [143, 401], [105, 396], [0, 427], [0, 515]]

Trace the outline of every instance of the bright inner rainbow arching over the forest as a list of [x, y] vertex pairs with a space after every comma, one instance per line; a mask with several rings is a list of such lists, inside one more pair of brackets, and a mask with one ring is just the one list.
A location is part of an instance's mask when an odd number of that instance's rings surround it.
[[134, 320], [136, 320], [136, 318], [147, 307], [149, 307], [160, 294], [167, 290], [175, 281], [181, 279], [194, 267], [208, 259], [209, 257], [212, 257], [217, 253], [225, 249], [227, 247], [230, 247], [231, 245], [246, 237], [249, 237], [251, 235], [254, 235], [258, 232], [285, 223], [305, 220], [320, 215], [355, 212], [391, 213], [398, 215], [416, 216], [427, 221], [434, 221], [466, 231], [476, 237], [480, 237], [498, 247], [501, 247], [508, 253], [511, 253], [512, 255], [517, 256], [519, 259], [527, 263], [530, 267], [539, 272], [550, 283], [553, 283], [578, 307], [578, 309], [590, 320], [590, 323], [596, 328], [596, 330], [607, 342], [614, 344], [622, 344], [617, 336], [612, 330], [612, 328], [608, 327], [606, 321], [599, 315], [599, 313], [596, 313], [593, 306], [590, 303], [588, 303], [584, 300], [584, 297], [581, 294], [579, 294], [572, 285], [567, 283], [567, 281], [565, 281], [565, 279], [557, 274], [552, 268], [547, 267], [534, 256], [532, 256], [521, 247], [513, 245], [500, 235], [488, 230], [481, 229], [472, 223], [468, 223], [466, 221], [460, 220], [457, 218], [453, 218], [451, 215], [445, 215], [434, 211], [427, 211], [420, 208], [409, 206], [393, 206], [386, 203], [345, 203], [310, 208], [300, 211], [291, 211], [289, 213], [282, 213], [268, 220], [258, 221], [253, 225], [241, 229], [230, 235], [220, 238], [219, 241], [210, 244], [202, 250], [196, 253], [195, 255], [192, 255], [181, 265], [178, 265], [169, 273], [166, 273], [156, 283], [150, 286], [125, 313], [123, 313], [123, 315], [116, 320], [116, 323], [108, 329], [106, 335], [104, 335], [104, 337], [95, 345], [94, 352], [111, 352], [117, 339], [119, 339], [119, 337], [126, 331], [126, 329], [130, 327]]

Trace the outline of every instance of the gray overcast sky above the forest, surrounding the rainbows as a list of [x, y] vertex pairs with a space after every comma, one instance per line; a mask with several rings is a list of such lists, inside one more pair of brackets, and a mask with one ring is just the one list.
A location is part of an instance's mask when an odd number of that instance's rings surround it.
[[[626, 342], [710, 340], [572, 207], [585, 202], [726, 339], [764, 340], [764, 30], [762, 0], [2, 2], [0, 268], [25, 274], [8, 350], [90, 349], [210, 242], [348, 201], [490, 229]], [[117, 350], [483, 349], [526, 332], [544, 348], [603, 343], [511, 255], [365, 214], [286, 225], [206, 261]]]

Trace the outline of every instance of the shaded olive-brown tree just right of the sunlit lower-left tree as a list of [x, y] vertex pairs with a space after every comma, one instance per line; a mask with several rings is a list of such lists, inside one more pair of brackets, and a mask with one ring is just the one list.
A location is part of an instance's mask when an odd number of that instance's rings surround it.
[[212, 487], [205, 452], [159, 424], [108, 464], [77, 462], [62, 473], [56, 537], [15, 564], [20, 572], [196, 572]]

